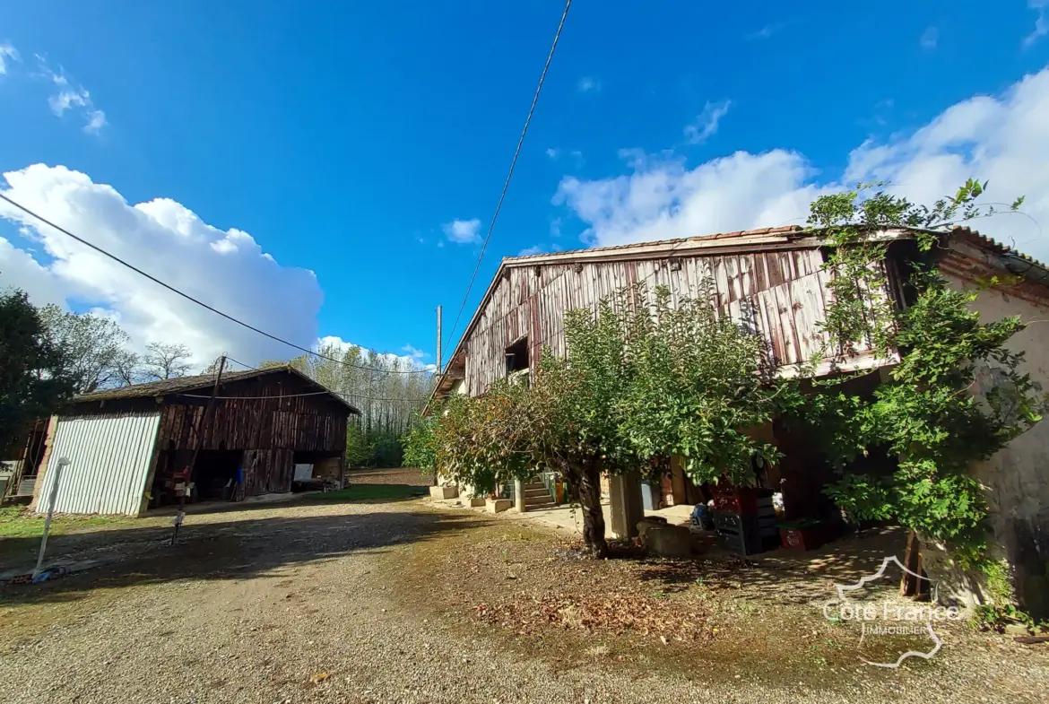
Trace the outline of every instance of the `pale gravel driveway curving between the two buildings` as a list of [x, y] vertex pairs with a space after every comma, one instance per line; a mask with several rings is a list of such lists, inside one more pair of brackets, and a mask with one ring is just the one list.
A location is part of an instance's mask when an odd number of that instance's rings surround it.
[[427, 593], [404, 578], [400, 556], [493, 522], [403, 500], [191, 516], [175, 548], [122, 531], [112, 539], [124, 561], [0, 591], [0, 701], [1021, 702], [1040, 701], [1049, 681], [1036, 656], [950, 678], [898, 670], [853, 688], [833, 676], [785, 684], [554, 668], [483, 627], [406, 606], [406, 595]]

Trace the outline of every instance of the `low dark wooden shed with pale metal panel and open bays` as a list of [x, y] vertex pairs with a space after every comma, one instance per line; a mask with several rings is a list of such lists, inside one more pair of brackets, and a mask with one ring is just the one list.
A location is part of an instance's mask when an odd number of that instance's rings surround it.
[[190, 502], [287, 493], [293, 481], [341, 485], [357, 408], [291, 367], [215, 381], [183, 377], [73, 399], [47, 425], [33, 506], [46, 510], [61, 457], [70, 461], [56, 503], [65, 513], [138, 515], [175, 504], [191, 464]]

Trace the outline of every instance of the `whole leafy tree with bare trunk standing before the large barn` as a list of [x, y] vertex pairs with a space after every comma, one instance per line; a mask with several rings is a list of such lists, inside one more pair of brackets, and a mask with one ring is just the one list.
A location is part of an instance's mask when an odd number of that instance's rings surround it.
[[775, 448], [747, 430], [771, 420], [777, 381], [751, 332], [720, 317], [709, 298], [635, 287], [565, 314], [568, 353], [543, 355], [531, 384], [501, 380], [484, 397], [454, 397], [433, 431], [436, 465], [461, 484], [491, 490], [536, 471], [560, 472], [582, 507], [583, 540], [607, 554], [602, 474], [686, 458], [698, 482], [748, 484]]

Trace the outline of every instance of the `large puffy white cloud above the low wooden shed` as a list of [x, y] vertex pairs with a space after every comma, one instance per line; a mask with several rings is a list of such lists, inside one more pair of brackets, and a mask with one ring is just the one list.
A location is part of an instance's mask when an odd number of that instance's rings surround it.
[[[3, 193], [162, 281], [296, 344], [317, 340], [322, 293], [313, 272], [281, 266], [245, 232], [222, 231], [165, 198], [129, 205], [111, 186], [63, 166], [3, 174]], [[223, 351], [244, 362], [297, 353], [158, 286], [0, 201], [0, 217], [24, 228], [34, 250], [0, 240], [0, 287], [34, 302], [72, 302], [119, 316], [137, 348], [181, 342], [206, 365]], [[35, 252], [35, 250], [42, 252]]]

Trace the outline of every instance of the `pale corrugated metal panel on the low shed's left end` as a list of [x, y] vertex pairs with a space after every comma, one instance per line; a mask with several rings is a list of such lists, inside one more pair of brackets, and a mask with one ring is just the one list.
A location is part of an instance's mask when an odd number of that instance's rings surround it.
[[158, 410], [59, 419], [37, 511], [47, 511], [58, 461], [68, 457], [56, 511], [137, 515], [159, 423]]

